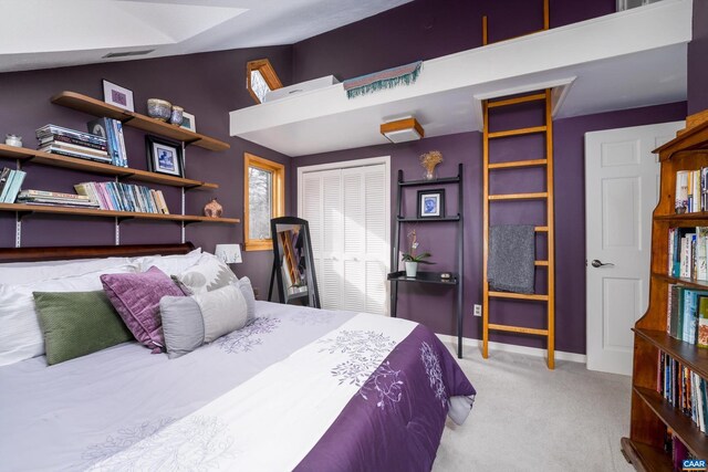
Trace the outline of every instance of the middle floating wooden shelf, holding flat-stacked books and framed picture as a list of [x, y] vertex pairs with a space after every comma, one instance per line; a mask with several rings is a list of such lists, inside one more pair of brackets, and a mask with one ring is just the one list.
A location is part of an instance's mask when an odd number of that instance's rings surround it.
[[167, 176], [164, 174], [148, 172], [147, 170], [131, 169], [129, 167], [117, 167], [110, 164], [94, 160], [65, 157], [58, 154], [42, 153], [41, 150], [25, 149], [0, 144], [0, 157], [32, 161], [45, 166], [63, 167], [65, 169], [85, 170], [87, 172], [101, 174], [104, 176], [117, 176], [131, 178], [142, 182], [162, 183], [171, 187], [185, 187], [202, 190], [215, 190], [217, 183], [202, 182], [200, 180], [184, 179], [180, 177]]

